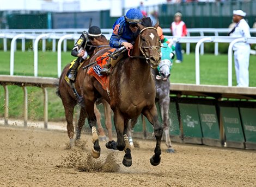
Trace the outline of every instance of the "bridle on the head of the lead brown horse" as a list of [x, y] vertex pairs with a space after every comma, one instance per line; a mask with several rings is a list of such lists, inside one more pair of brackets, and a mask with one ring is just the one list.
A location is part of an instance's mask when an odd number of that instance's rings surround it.
[[[159, 53], [160, 53], [160, 48], [161, 48], [161, 45], [160, 45], [160, 41], [159, 41], [159, 46], [142, 46], [142, 38], [141, 38], [141, 33], [144, 31], [144, 30], [146, 30], [146, 29], [155, 29], [156, 30], [156, 28], [155, 27], [145, 27], [145, 28], [143, 28], [141, 31], [139, 31], [139, 50], [141, 51], [141, 53], [143, 54], [143, 56], [131, 56], [130, 55], [130, 50], [131, 49], [129, 49], [129, 51], [128, 51], [128, 56], [130, 57], [130, 58], [139, 58], [139, 59], [145, 59], [146, 61], [147, 61], [147, 63], [149, 64], [150, 62], [149, 62], [149, 57], [147, 57], [146, 55], [145, 55], [145, 52], [144, 52], [144, 50], [143, 49], [149, 49], [149, 48], [151, 48], [151, 50], [157, 50]], [[156, 30], [157, 31], [157, 30]]]

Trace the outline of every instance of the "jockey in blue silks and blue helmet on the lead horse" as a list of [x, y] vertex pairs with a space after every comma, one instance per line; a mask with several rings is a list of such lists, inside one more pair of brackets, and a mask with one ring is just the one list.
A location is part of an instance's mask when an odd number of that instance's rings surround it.
[[[138, 23], [142, 21], [143, 15], [139, 9], [130, 9], [125, 16], [118, 18], [113, 24], [109, 46], [112, 48], [125, 47], [132, 49], [137, 36], [139, 35]], [[101, 70], [101, 74], [108, 74], [111, 67], [109, 63]]]

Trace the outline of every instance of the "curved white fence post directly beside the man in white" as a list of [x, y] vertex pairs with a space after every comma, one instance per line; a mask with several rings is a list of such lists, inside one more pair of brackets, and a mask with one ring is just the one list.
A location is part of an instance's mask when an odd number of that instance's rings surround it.
[[247, 39], [242, 37], [242, 38], [236, 38], [233, 40], [228, 47], [228, 86], [232, 86], [232, 49], [233, 46], [236, 42], [246, 42]]

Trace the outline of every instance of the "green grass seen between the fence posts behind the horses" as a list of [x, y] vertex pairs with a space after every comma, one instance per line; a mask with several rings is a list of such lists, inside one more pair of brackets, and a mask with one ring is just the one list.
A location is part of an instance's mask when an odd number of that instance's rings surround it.
[[[0, 74], [10, 74], [10, 52], [0, 51]], [[73, 60], [70, 53], [62, 53], [62, 68]], [[194, 54], [184, 55], [184, 62], [174, 63], [170, 80], [174, 83], [196, 83]], [[249, 86], [256, 87], [256, 56], [250, 57]], [[34, 75], [33, 52], [15, 52], [14, 74]], [[38, 76], [57, 78], [57, 53], [39, 51]], [[200, 83], [202, 85], [228, 85], [228, 56], [205, 54], [200, 56]], [[236, 85], [235, 70], [233, 63], [233, 85]], [[23, 117], [23, 91], [18, 86], [8, 86], [9, 90], [9, 117]], [[28, 91], [28, 117], [31, 120], [42, 120], [43, 93], [41, 88], [27, 87]], [[54, 88], [48, 91], [48, 118], [51, 121], [64, 120], [64, 108], [62, 101], [56, 96]], [[0, 87], [0, 117], [4, 115], [4, 89]]]

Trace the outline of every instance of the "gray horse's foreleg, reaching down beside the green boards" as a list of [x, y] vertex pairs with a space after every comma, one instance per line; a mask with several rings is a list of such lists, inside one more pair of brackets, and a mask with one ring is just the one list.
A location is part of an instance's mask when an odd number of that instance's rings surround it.
[[167, 146], [167, 152], [173, 153], [174, 149], [172, 147], [172, 142], [170, 141], [170, 121], [169, 121], [169, 104], [170, 104], [170, 98], [169, 95], [166, 96], [166, 98], [160, 99], [159, 101], [160, 108], [161, 108], [161, 115], [163, 119], [163, 131], [165, 134], [166, 139], [166, 146]]

